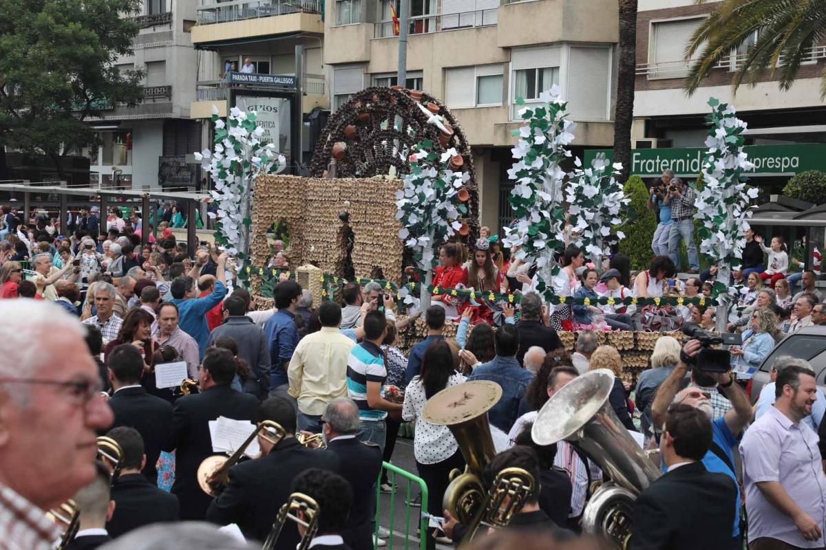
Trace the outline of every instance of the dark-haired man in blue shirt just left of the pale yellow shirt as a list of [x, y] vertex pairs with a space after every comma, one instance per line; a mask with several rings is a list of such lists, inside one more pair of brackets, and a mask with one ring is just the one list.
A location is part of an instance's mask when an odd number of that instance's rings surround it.
[[301, 299], [301, 286], [294, 280], [282, 281], [273, 289], [273, 301], [278, 312], [273, 317], [269, 317], [263, 326], [269, 342], [271, 396], [286, 397], [284, 393], [287, 389], [284, 387], [289, 387], [287, 367], [299, 340], [296, 326], [299, 299]]

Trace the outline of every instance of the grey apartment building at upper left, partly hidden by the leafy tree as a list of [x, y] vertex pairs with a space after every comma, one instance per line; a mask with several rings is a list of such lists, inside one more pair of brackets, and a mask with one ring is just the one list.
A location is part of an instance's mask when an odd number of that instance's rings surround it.
[[135, 22], [140, 31], [121, 70], [144, 69], [138, 106], [116, 106], [89, 119], [98, 143], [83, 149], [92, 186], [157, 189], [192, 186], [196, 168], [187, 153], [201, 148], [200, 128], [189, 118], [195, 99], [197, 53], [192, 49], [197, 0], [145, 0]]

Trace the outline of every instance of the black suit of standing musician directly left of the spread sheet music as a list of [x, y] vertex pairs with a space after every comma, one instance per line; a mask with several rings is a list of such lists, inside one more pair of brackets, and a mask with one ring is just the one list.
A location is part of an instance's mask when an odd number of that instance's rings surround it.
[[[236, 392], [229, 384], [214, 386], [203, 393], [181, 397], [175, 402], [172, 435], [166, 451], [175, 451], [175, 482], [172, 492], [181, 505], [181, 519], [203, 519], [212, 497], [198, 487], [198, 466], [212, 452], [209, 421], [218, 416], [254, 421], [258, 399]], [[227, 522], [231, 523], [231, 522]]]

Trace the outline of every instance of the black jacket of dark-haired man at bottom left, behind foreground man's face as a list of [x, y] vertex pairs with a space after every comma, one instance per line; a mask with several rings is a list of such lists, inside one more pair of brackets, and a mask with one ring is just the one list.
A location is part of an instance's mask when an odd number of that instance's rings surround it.
[[112, 487], [115, 513], [106, 524], [112, 537], [163, 521], [178, 521], [178, 497], [155, 487], [140, 474], [118, 477]]

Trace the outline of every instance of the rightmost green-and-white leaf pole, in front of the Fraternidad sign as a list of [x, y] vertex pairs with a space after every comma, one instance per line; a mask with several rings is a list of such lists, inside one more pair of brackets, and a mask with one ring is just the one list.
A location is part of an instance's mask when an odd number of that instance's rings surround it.
[[728, 321], [731, 297], [728, 296], [732, 267], [740, 266], [745, 232], [751, 213], [751, 202], [757, 198], [757, 189], [746, 185], [743, 172], [752, 170], [743, 151], [743, 134], [747, 125], [737, 118], [734, 106], [709, 100], [711, 113], [705, 120], [711, 125], [705, 145], [709, 148], [703, 158], [701, 176], [703, 188], [697, 190], [695, 219], [702, 222], [699, 229], [700, 251], [717, 264], [715, 292], [719, 292], [722, 312], [717, 313], [718, 328], [724, 330]]

